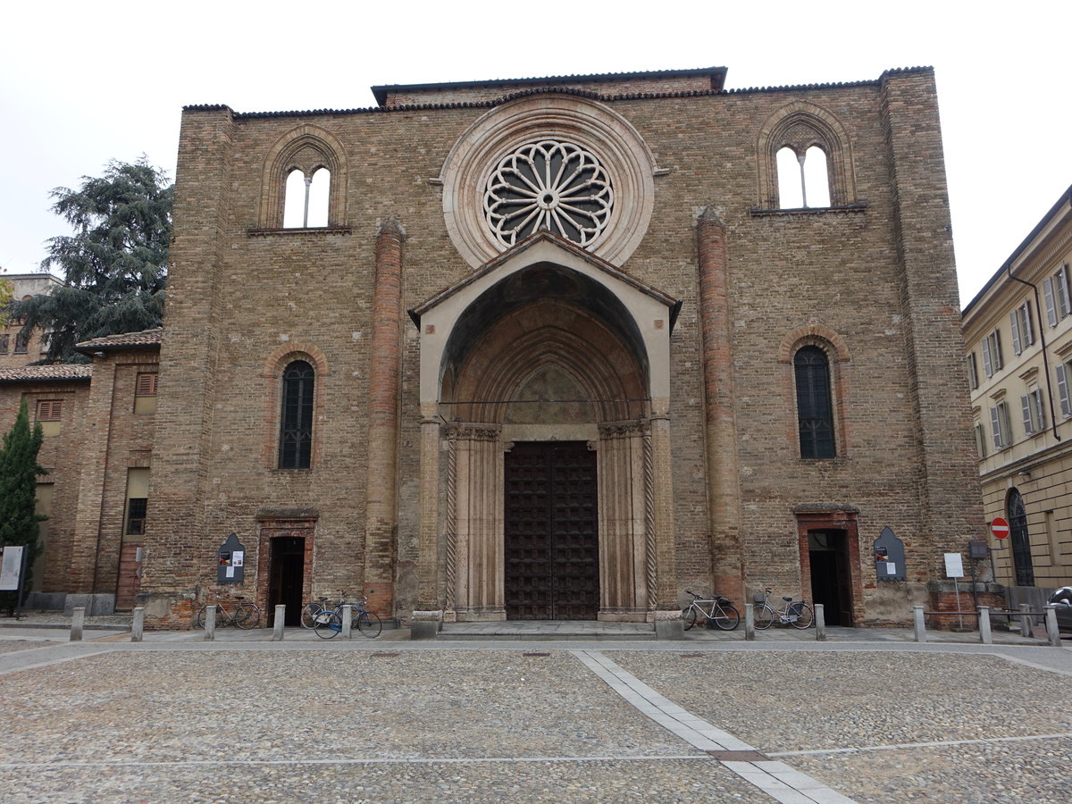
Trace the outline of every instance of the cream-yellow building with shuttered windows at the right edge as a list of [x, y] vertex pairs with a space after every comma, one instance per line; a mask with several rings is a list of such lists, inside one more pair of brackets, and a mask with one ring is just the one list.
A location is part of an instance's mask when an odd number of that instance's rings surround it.
[[1072, 188], [962, 323], [995, 580], [1041, 604], [1072, 584]]

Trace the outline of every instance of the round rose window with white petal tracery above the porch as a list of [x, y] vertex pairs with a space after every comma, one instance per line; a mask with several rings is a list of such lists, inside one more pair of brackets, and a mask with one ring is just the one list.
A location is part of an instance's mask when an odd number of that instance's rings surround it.
[[528, 143], [504, 157], [483, 193], [488, 225], [507, 247], [540, 229], [586, 245], [606, 228], [613, 205], [599, 160], [554, 139]]

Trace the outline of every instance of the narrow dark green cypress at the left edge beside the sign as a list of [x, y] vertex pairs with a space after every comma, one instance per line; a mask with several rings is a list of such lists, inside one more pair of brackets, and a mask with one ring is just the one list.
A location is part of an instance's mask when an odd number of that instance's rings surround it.
[[[27, 577], [39, 552], [38, 523], [45, 519], [34, 508], [38, 475], [47, 474], [38, 465], [43, 437], [40, 421], [30, 427], [30, 414], [23, 400], [0, 448], [0, 546], [26, 546]], [[14, 592], [0, 592], [0, 608], [14, 609], [16, 602]]]

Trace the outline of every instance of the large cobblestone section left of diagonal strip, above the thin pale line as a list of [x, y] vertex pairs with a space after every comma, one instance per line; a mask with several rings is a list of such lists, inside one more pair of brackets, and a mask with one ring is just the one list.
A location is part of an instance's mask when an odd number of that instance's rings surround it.
[[0, 676], [19, 702], [0, 763], [689, 753], [565, 653], [140, 652], [31, 672]]

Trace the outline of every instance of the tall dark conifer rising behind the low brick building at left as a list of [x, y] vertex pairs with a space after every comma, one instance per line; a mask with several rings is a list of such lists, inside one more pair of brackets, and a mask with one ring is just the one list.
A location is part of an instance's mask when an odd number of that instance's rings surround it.
[[45, 362], [84, 360], [74, 345], [90, 338], [159, 327], [164, 312], [174, 187], [145, 157], [111, 161], [104, 176], [76, 190], [57, 188], [53, 211], [74, 228], [48, 241], [42, 270], [65, 284], [11, 306], [23, 332], [49, 332]]

